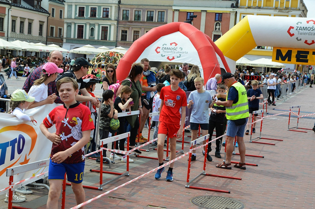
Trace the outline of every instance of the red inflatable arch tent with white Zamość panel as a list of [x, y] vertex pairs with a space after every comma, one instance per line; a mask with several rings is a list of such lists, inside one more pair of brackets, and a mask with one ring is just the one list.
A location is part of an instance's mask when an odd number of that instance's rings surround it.
[[[176, 33], [176, 32], [180, 32], [180, 33]], [[182, 44], [182, 45], [184, 45], [185, 47], [190, 44], [195, 48], [192, 51], [197, 51], [198, 54], [196, 54], [196, 56], [198, 56], [198, 58], [196, 58], [196, 60], [200, 59], [201, 66], [199, 66], [199, 68], [201, 68], [201, 71], [203, 71], [202, 76], [205, 79], [205, 82], [209, 78], [214, 77], [215, 74], [217, 73], [221, 74], [221, 68], [223, 68], [226, 72], [231, 72], [221, 50], [215, 45], [215, 43], [210, 39], [209, 36], [205, 35], [203, 32], [199, 31], [197, 28], [195, 28], [194, 26], [188, 23], [173, 22], [173, 23], [169, 23], [169, 24], [151, 29], [145, 35], [137, 39], [131, 45], [129, 50], [126, 52], [126, 54], [124, 54], [123, 58], [119, 61], [119, 64], [117, 66], [117, 80], [122, 81], [129, 75], [131, 65], [135, 61], [137, 60], [139, 61], [143, 58], [148, 58], [149, 60], [151, 60], [149, 58], [150, 54], [151, 55], [154, 54], [154, 56], [158, 57], [158, 60], [155, 59], [151, 61], [169, 61], [173, 63], [176, 62], [175, 61], [176, 54], [173, 54], [174, 56], [170, 55], [170, 56], [165, 57], [165, 55], [161, 53], [162, 52], [161, 49], [163, 49], [163, 47], [162, 46], [161, 46], [162, 48], [156, 47], [154, 45], [154, 43], [157, 42], [158, 39], [166, 37], [173, 33], [176, 33], [175, 35], [178, 36], [179, 38], [182, 37], [182, 35], [184, 35], [185, 38], [188, 38], [191, 43], [186, 42], [185, 44]], [[169, 48], [171, 49], [172, 47], [175, 48], [175, 46], [177, 46], [177, 43], [176, 43], [177, 41], [175, 38], [174, 42], [171, 42], [171, 43], [167, 42], [167, 44], [164, 43], [163, 46], [168, 45]], [[143, 52], [148, 47], [150, 47], [150, 49], [152, 50], [150, 50], [149, 53], [143, 54]], [[183, 49], [181, 48], [181, 50]], [[180, 51], [176, 53], [180, 53]], [[220, 66], [217, 59], [217, 55], [218, 55], [218, 58], [221, 59], [223, 66]], [[180, 54], [177, 57], [180, 57]], [[165, 59], [168, 59], [168, 60], [165, 60]], [[195, 64], [192, 62], [193, 61], [191, 61], [190, 64]]]

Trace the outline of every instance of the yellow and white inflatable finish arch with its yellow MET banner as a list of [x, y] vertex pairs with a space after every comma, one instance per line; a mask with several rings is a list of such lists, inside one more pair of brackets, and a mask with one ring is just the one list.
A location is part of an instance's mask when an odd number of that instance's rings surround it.
[[231, 70], [256, 46], [272, 46], [272, 61], [315, 65], [315, 19], [247, 15], [215, 44]]

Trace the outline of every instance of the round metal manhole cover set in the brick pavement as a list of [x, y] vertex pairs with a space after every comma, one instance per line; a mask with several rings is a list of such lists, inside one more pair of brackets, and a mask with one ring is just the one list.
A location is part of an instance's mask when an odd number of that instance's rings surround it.
[[242, 209], [244, 204], [238, 200], [222, 196], [198, 196], [191, 199], [192, 203], [208, 209]]

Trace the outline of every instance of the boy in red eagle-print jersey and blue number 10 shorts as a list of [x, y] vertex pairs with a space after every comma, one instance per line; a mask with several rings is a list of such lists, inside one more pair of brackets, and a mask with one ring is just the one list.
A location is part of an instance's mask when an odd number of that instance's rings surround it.
[[[42, 133], [53, 142], [48, 173], [48, 209], [58, 208], [65, 173], [71, 182], [77, 204], [85, 201], [82, 186], [84, 145], [89, 142], [91, 130], [94, 129], [91, 111], [76, 101], [79, 91], [77, 82], [69, 77], [62, 78], [57, 82], [57, 90], [64, 105], [54, 108], [40, 124]], [[54, 124], [56, 133], [50, 133], [48, 128]]]

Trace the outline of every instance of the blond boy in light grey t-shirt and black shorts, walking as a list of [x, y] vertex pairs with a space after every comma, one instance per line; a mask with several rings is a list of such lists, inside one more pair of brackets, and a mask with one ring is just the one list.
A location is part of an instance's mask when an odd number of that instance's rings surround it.
[[[202, 77], [197, 77], [194, 80], [196, 90], [192, 91], [187, 99], [187, 108], [192, 107], [190, 115], [190, 129], [192, 130], [192, 141], [197, 139], [198, 129], [202, 131], [202, 135], [208, 134], [209, 126], [209, 105], [211, 104], [211, 95], [203, 89], [204, 80]], [[203, 141], [205, 144], [206, 142]], [[206, 147], [203, 147], [203, 155], [205, 155]], [[189, 159], [188, 159], [189, 160]], [[196, 160], [196, 150], [192, 151], [192, 161]], [[207, 160], [212, 161], [212, 157], [207, 154]]]

